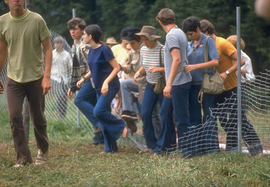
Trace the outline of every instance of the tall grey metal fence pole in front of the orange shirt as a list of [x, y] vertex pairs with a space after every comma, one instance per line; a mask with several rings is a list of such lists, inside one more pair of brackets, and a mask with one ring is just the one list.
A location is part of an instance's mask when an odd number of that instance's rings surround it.
[[242, 115], [241, 115], [241, 7], [236, 7], [236, 33], [237, 33], [237, 121], [238, 121], [238, 153], [242, 153]]

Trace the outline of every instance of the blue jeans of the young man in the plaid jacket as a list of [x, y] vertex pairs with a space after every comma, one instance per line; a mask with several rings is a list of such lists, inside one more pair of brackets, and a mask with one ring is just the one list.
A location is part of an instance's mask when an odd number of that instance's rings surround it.
[[[96, 91], [92, 86], [90, 80], [86, 81], [79, 93], [74, 99], [74, 104], [85, 115], [85, 117], [91, 122], [91, 124], [97, 129], [100, 126], [98, 119], [95, 117], [93, 111], [97, 103]], [[104, 138], [101, 134], [97, 134], [93, 138], [93, 143], [103, 143]]]

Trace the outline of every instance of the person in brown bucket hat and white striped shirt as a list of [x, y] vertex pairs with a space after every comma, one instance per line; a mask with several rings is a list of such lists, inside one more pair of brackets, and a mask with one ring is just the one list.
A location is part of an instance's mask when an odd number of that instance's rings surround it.
[[147, 84], [143, 95], [141, 115], [143, 133], [148, 148], [145, 151], [152, 152], [156, 147], [156, 142], [160, 134], [159, 113], [163, 101], [163, 93], [156, 94], [154, 88], [161, 77], [161, 73], [165, 73], [163, 62], [164, 45], [157, 42], [157, 39], [161, 38], [161, 36], [156, 35], [156, 29], [152, 26], [143, 26], [142, 31], [135, 34], [135, 37], [140, 38], [145, 44], [140, 51], [140, 63], [142, 67], [134, 77], [136, 80], [140, 75], [146, 74]]

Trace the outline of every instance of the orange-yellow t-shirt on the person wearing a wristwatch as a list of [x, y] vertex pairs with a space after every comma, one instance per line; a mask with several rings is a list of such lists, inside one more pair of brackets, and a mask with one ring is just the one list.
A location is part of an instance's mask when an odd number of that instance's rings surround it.
[[[235, 63], [230, 56], [236, 51], [235, 47], [228, 40], [217, 37], [216, 39], [217, 51], [219, 55], [218, 68], [219, 73], [228, 70]], [[223, 81], [225, 91], [237, 86], [237, 72], [230, 73], [230, 75]]]

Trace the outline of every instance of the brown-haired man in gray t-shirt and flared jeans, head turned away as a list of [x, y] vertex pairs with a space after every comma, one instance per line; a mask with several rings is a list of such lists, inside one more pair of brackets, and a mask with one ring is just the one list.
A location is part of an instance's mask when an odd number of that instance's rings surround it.
[[190, 127], [187, 115], [187, 94], [191, 84], [191, 75], [184, 72], [184, 66], [187, 65], [187, 37], [175, 25], [173, 10], [162, 9], [156, 19], [167, 35], [164, 51], [166, 87], [163, 90], [164, 99], [161, 106], [161, 133], [154, 152], [169, 153], [172, 146], [176, 144], [176, 131], [172, 118], [174, 111], [179, 150], [189, 155], [193, 152], [187, 147], [190, 142], [184, 137]]

